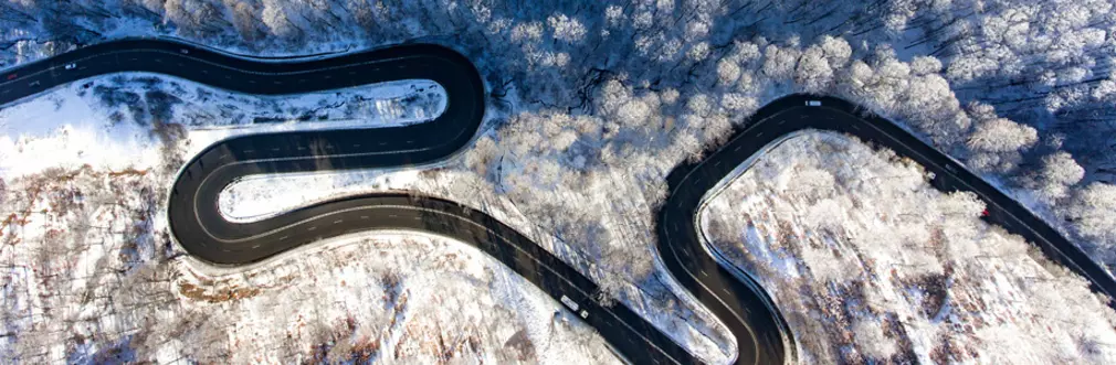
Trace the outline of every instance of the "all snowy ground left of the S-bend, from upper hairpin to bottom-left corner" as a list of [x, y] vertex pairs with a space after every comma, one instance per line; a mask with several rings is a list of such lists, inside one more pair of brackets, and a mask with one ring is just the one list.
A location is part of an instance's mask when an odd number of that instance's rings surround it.
[[[0, 109], [0, 357], [617, 362], [530, 283], [444, 238], [354, 235], [215, 268], [167, 237], [165, 187], [192, 150], [249, 132], [421, 121], [444, 108], [441, 92], [410, 81], [256, 98], [124, 75]], [[297, 117], [307, 112], [317, 117]]]

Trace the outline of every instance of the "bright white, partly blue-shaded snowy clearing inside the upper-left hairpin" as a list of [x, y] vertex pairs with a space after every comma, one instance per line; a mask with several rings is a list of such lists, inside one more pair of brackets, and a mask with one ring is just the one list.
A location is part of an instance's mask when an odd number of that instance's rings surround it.
[[[297, 96], [254, 96], [152, 73], [75, 82], [0, 109], [0, 172], [90, 164], [147, 169], [167, 134], [189, 132], [183, 156], [244, 134], [415, 124], [445, 108], [445, 91], [402, 80]], [[180, 136], [181, 137], [181, 136]]]

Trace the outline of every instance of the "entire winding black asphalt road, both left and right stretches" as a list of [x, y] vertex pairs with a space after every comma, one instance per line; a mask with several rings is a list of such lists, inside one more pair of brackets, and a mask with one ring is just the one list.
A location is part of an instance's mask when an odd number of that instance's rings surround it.
[[[225, 220], [218, 195], [251, 175], [406, 167], [445, 159], [470, 144], [484, 115], [484, 85], [472, 63], [440, 46], [403, 45], [315, 60], [233, 57], [167, 40], [119, 40], [85, 47], [0, 73], [0, 105], [85, 78], [114, 72], [169, 75], [238, 92], [292, 95], [401, 79], [427, 79], [446, 92], [432, 121], [404, 127], [237, 137], [208, 147], [182, 169], [169, 201], [171, 230], [193, 256], [217, 265], [259, 262], [321, 238], [369, 229], [433, 233], [473, 245], [562, 302], [636, 364], [692, 364], [672, 337], [623, 304], [603, 307], [597, 286], [526, 236], [487, 214], [434, 197], [372, 194], [325, 201], [253, 223]], [[818, 101], [808, 106], [808, 101]], [[670, 274], [737, 337], [737, 364], [797, 361], [782, 315], [748, 274], [699, 238], [702, 198], [737, 166], [789, 132], [828, 129], [894, 149], [936, 174], [944, 190], [972, 190], [989, 203], [992, 223], [1038, 243], [1056, 260], [1109, 296], [1113, 279], [1040, 219], [896, 125], [862, 116], [841, 100], [791, 96], [762, 108], [729, 142], [667, 177], [656, 245]], [[1101, 275], [1104, 274], [1104, 275]]]

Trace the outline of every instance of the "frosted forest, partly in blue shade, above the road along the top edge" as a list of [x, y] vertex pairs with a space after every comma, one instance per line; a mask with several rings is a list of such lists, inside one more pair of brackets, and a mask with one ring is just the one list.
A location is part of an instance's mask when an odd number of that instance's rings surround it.
[[[644, 196], [654, 204], [662, 194], [651, 181], [718, 144], [763, 102], [792, 91], [837, 95], [998, 177], [1096, 257], [1116, 263], [1116, 239], [1106, 234], [1116, 227], [1103, 219], [1116, 215], [1116, 197], [1112, 185], [1095, 182], [1110, 180], [1116, 164], [1104, 137], [1116, 125], [1110, 0], [87, 0], [0, 8], [0, 23], [11, 29], [0, 45], [4, 65], [137, 32], [269, 55], [415, 38], [449, 45], [478, 61], [498, 99], [510, 90], [525, 101], [499, 141], [481, 141], [489, 156], [471, 165], [496, 191], [525, 199], [549, 187], [588, 198], [593, 181], [608, 178], [650, 187]], [[562, 199], [554, 204], [564, 208], [536, 208], [540, 219], [556, 216], [556, 231], [584, 236], [571, 239], [588, 251], [646, 255], [646, 241], [599, 234], [615, 231], [607, 210]], [[599, 229], [580, 228], [594, 221]]]

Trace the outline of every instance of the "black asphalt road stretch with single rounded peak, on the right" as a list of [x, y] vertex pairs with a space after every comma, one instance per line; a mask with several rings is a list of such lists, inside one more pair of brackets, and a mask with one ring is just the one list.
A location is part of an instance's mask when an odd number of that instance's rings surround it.
[[935, 188], [974, 193], [988, 206], [987, 221], [1039, 246], [1048, 257], [1087, 278], [1094, 290], [1109, 298], [1116, 294], [1116, 280], [1100, 265], [1026, 207], [902, 127], [853, 103], [830, 97], [793, 95], [764, 106], [745, 126], [704, 159], [685, 162], [671, 171], [670, 195], [656, 220], [657, 248], [664, 264], [737, 335], [738, 363], [795, 362], [797, 346], [786, 319], [766, 290], [699, 238], [694, 217], [703, 197], [733, 169], [780, 137], [805, 129], [849, 134], [911, 158], [934, 172], [931, 185]]

